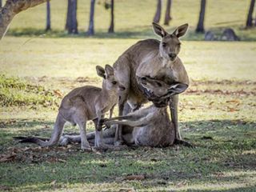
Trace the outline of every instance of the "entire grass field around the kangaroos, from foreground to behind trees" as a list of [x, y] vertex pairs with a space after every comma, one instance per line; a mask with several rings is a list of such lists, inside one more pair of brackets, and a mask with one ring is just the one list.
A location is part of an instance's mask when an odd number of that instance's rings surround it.
[[[0, 42], [0, 191], [256, 190], [256, 30], [242, 29], [250, 1], [209, 0], [206, 10], [207, 29], [220, 33], [232, 26], [246, 42], [192, 41], [203, 37], [193, 32], [200, 1], [173, 2], [168, 29], [191, 26], [180, 54], [191, 85], [180, 96], [178, 114], [182, 137], [196, 147], [85, 153], [79, 144], [49, 149], [13, 140], [50, 136], [66, 93], [100, 86], [96, 65], [113, 64], [138, 38], [155, 38], [150, 28], [155, 1], [116, 1], [112, 35], [106, 34], [110, 13], [101, 1], [97, 34], [86, 38], [89, 1], [78, 1], [81, 33], [68, 36], [62, 30], [66, 1], [53, 0], [52, 33], [44, 34], [42, 5], [18, 14]], [[67, 125], [64, 131], [78, 127]]]

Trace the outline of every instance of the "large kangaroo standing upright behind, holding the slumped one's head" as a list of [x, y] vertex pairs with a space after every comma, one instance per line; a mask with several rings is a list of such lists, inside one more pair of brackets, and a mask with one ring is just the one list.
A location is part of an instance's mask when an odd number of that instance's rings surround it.
[[[181, 48], [179, 38], [186, 34], [188, 24], [178, 26], [172, 34], [168, 34], [162, 26], [156, 23], [153, 23], [153, 28], [155, 34], [162, 38], [161, 41], [157, 39], [139, 41], [126, 50], [114, 63], [114, 76], [123, 89], [118, 99], [119, 116], [126, 114], [124, 110], [126, 102], [133, 110], [147, 102], [146, 95], [142, 91], [143, 88], [138, 83], [138, 78], [150, 77], [170, 85], [173, 82], [181, 82], [187, 86], [190, 84], [186, 69], [181, 59], [178, 58]], [[182, 138], [178, 130], [178, 95], [173, 95], [170, 101], [175, 140], [181, 142]], [[122, 143], [121, 125], [118, 125], [114, 140], [116, 145]]]

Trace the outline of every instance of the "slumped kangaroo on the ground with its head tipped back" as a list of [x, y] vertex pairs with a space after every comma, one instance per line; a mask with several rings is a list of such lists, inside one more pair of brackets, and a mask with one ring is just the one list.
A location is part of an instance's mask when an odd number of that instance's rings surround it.
[[[148, 90], [154, 97], [163, 98], [182, 93], [187, 85], [175, 82], [172, 85], [165, 82], [139, 78], [138, 82]], [[102, 123], [107, 126], [123, 125], [123, 139], [127, 145], [136, 146], [171, 146], [174, 144], [174, 125], [170, 121], [167, 107], [156, 107], [154, 105], [140, 108], [125, 116], [102, 119]], [[103, 131], [103, 140], [108, 144], [114, 144], [114, 134], [116, 126]], [[94, 133], [87, 134], [89, 142], [94, 142]], [[80, 136], [64, 135], [62, 144], [69, 142], [81, 142]]]

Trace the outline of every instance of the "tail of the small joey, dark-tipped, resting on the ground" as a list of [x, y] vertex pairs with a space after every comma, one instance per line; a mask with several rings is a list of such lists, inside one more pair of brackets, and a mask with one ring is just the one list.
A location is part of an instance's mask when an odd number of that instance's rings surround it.
[[59, 139], [62, 136], [62, 131], [64, 128], [66, 120], [62, 118], [62, 115], [58, 113], [58, 116], [56, 118], [55, 124], [54, 124], [54, 130], [51, 134], [50, 140], [46, 141], [44, 139], [40, 139], [37, 137], [29, 137], [22, 139], [21, 142], [32, 142], [37, 143], [39, 146], [54, 146], [58, 143]]

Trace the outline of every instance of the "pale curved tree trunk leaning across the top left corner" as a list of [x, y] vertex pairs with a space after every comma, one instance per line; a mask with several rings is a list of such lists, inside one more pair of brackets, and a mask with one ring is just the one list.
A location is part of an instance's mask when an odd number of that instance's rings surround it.
[[47, 0], [7, 0], [0, 10], [0, 39], [6, 34], [10, 22], [16, 14], [30, 7], [38, 6]]

